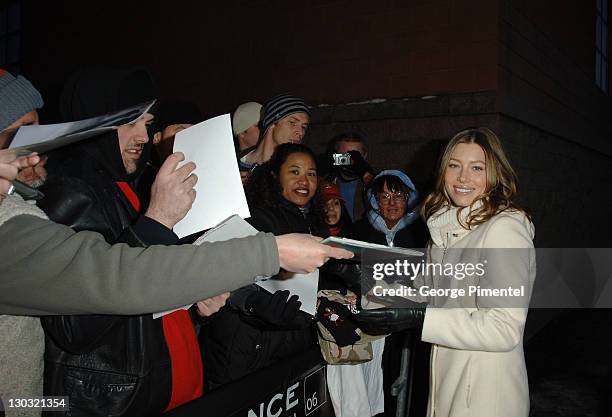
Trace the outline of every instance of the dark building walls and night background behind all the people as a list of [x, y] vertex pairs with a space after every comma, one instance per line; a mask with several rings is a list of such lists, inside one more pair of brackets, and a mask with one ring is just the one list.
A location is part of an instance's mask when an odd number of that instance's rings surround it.
[[[424, 192], [444, 140], [487, 125], [518, 171], [537, 247], [610, 247], [612, 100], [609, 66], [596, 83], [597, 3], [0, 1], [0, 52], [41, 91], [49, 123], [82, 65], [146, 66], [162, 99], [193, 101], [205, 118], [292, 92], [314, 107], [306, 144], [320, 151], [357, 130], [374, 168], [403, 169]], [[612, 415], [611, 324], [608, 310], [530, 312], [532, 416]]]

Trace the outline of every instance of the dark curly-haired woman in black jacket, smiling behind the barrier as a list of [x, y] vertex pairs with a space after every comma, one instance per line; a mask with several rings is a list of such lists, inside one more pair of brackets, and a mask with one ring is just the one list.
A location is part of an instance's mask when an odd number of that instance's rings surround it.
[[[248, 221], [257, 230], [326, 235], [317, 167], [306, 146], [279, 145], [270, 161], [255, 169], [246, 194]], [[232, 292], [228, 308], [212, 316], [204, 332], [207, 386], [214, 389], [315, 345], [314, 318], [300, 306], [288, 291], [270, 294], [251, 285]]]

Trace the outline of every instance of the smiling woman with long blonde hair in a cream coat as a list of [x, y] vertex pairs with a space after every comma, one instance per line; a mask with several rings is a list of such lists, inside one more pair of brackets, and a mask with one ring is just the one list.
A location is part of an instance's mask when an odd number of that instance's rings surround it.
[[[421, 277], [418, 285], [522, 288], [523, 297], [429, 296], [422, 339], [432, 343], [428, 416], [527, 417], [523, 330], [535, 279], [533, 224], [513, 202], [516, 175], [488, 128], [457, 133], [422, 207], [430, 262], [477, 263], [484, 276]], [[501, 248], [489, 250], [490, 248]]]

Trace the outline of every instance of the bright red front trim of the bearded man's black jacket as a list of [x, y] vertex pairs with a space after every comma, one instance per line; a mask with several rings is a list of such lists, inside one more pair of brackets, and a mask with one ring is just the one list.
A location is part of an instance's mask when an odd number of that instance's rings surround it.
[[[140, 200], [130, 185], [124, 181], [116, 183], [134, 210], [140, 212]], [[172, 365], [172, 396], [165, 413], [201, 397], [204, 392], [204, 377], [200, 346], [189, 312], [178, 310], [166, 314], [161, 320]]]

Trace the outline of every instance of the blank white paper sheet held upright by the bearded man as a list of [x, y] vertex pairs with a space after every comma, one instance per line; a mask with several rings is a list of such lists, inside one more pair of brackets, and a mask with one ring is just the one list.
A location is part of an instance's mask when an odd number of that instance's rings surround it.
[[174, 232], [179, 237], [211, 228], [233, 214], [250, 217], [234, 151], [230, 115], [198, 123], [176, 134], [174, 152], [195, 162], [196, 199]]

